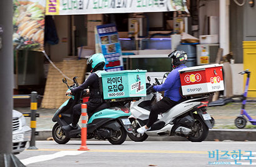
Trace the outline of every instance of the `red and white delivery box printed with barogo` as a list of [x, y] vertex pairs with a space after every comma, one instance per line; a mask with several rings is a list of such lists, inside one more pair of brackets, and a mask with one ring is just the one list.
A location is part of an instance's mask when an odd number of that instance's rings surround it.
[[224, 90], [222, 66], [219, 64], [193, 66], [179, 70], [184, 96]]

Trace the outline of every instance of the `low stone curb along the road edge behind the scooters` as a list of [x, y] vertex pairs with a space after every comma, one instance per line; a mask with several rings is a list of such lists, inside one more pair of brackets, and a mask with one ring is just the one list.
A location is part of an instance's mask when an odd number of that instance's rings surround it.
[[[39, 131], [36, 140], [52, 140], [51, 130]], [[76, 140], [76, 139], [74, 139]], [[80, 140], [80, 139], [78, 139]], [[90, 139], [95, 140], [95, 139]], [[130, 138], [126, 138], [130, 141]], [[256, 141], [256, 129], [210, 129], [205, 141]], [[187, 138], [179, 136], [148, 137], [147, 141], [188, 141]]]

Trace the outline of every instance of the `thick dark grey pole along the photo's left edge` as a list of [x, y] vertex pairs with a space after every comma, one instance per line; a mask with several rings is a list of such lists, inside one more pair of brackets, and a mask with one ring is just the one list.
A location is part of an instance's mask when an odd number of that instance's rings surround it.
[[24, 166], [12, 154], [12, 1], [0, 1], [0, 166]]

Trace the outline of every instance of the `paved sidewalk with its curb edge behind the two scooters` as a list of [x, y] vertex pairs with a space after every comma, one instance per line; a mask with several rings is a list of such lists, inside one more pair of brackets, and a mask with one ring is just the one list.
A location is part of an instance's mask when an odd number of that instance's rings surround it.
[[[241, 103], [232, 102], [225, 106], [214, 106], [208, 107], [207, 112], [212, 115], [215, 119], [214, 129], [210, 130], [209, 137], [207, 140], [256, 140], [256, 125], [250, 124], [247, 122], [246, 129], [237, 129], [234, 125], [234, 120], [240, 113]], [[255, 102], [247, 102], [246, 111], [249, 115], [256, 119], [256, 103]], [[29, 107], [16, 107], [14, 108], [19, 112], [30, 112]], [[52, 122], [52, 116], [57, 111], [57, 109], [37, 109], [37, 113], [40, 114], [37, 119], [36, 130], [39, 131], [39, 137], [41, 140], [46, 140], [47, 137], [51, 137], [51, 129], [55, 122]], [[29, 125], [30, 117], [26, 117], [27, 125]], [[249, 129], [247, 129], [249, 128]], [[229, 134], [230, 133], [230, 134]], [[252, 137], [250, 135], [252, 135]], [[220, 136], [219, 136], [220, 135]], [[227, 135], [227, 137], [225, 137]], [[235, 136], [237, 137], [235, 137]], [[41, 137], [40, 137], [41, 136]], [[239, 138], [240, 136], [240, 138]], [[244, 136], [244, 138], [242, 138]], [[158, 138], [158, 137], [156, 137]], [[165, 138], [165, 137], [162, 137]], [[170, 138], [170, 137], [167, 137]], [[175, 139], [177, 138], [177, 139]], [[150, 139], [150, 138], [149, 138]], [[172, 137], [173, 140], [184, 140], [185, 138], [180, 137]], [[171, 140], [172, 140], [171, 139]], [[152, 138], [154, 140], [154, 138]], [[158, 139], [157, 139], [158, 140]], [[163, 139], [159, 139], [163, 140]], [[169, 140], [169, 139], [166, 139]], [[186, 139], [185, 139], [186, 140]]]

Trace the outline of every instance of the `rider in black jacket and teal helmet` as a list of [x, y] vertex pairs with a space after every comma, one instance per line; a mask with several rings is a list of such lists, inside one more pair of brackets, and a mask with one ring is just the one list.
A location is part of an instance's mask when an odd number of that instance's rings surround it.
[[[86, 102], [87, 104], [87, 112], [88, 115], [92, 115], [97, 109], [97, 107], [101, 106], [101, 104], [104, 102], [103, 99], [103, 94], [100, 91], [99, 87], [99, 76], [101, 76], [101, 73], [104, 72], [104, 66], [105, 66], [105, 58], [102, 53], [96, 53], [92, 55], [88, 60], [87, 60], [87, 65], [92, 66], [92, 71], [90, 76], [82, 83], [80, 86], [77, 88], [71, 89], [71, 91], [67, 91], [67, 94], [76, 94], [80, 93], [84, 89], [89, 88], [90, 92], [90, 97], [89, 101]], [[64, 130], [74, 130], [77, 129], [77, 123], [80, 119], [81, 115], [81, 104], [76, 104], [73, 107], [73, 119], [72, 123], [66, 126], [63, 126], [62, 129]]]

